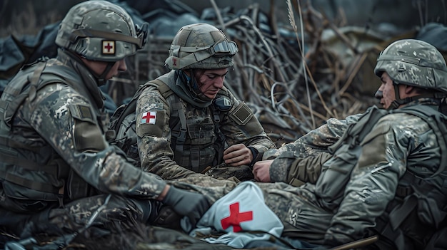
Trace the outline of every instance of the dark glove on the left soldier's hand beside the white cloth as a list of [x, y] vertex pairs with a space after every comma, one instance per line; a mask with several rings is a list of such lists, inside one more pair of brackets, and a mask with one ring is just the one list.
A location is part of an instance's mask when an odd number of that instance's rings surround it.
[[188, 192], [173, 186], [169, 187], [163, 202], [171, 206], [178, 214], [188, 217], [193, 227], [210, 207], [203, 194]]

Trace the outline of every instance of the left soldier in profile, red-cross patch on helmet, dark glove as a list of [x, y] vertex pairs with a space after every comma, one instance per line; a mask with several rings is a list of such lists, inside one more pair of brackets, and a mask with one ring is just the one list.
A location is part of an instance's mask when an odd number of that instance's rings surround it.
[[204, 196], [134, 167], [106, 141], [99, 85], [126, 70], [124, 59], [145, 45], [145, 28], [109, 1], [77, 4], [61, 21], [56, 58], [24, 67], [6, 86], [0, 227], [10, 234], [89, 227], [104, 235], [126, 221], [153, 219], [160, 202], [193, 223], [208, 209]]

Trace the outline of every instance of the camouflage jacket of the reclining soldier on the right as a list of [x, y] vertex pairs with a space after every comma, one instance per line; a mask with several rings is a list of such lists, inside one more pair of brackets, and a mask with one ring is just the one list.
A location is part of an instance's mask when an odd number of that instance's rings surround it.
[[[424, 107], [427, 109], [423, 110]], [[369, 115], [380, 110], [370, 108], [357, 122], [356, 129], [362, 136], [352, 137], [360, 134], [352, 134], [354, 129], [348, 127], [339, 140], [342, 143], [329, 149], [333, 157], [322, 165], [316, 184], [301, 186], [303, 197], [333, 212], [326, 241], [344, 243], [363, 238], [395, 198], [417, 197], [416, 220], [428, 228], [436, 228], [443, 221], [446, 217], [443, 178], [447, 171], [443, 167], [446, 162], [442, 154], [446, 154], [443, 152], [446, 150], [443, 136], [446, 118], [437, 112], [437, 108], [438, 104], [431, 99], [421, 98], [382, 115], [377, 123], [371, 123]], [[431, 122], [406, 111], [411, 109], [426, 113]], [[433, 122], [435, 120], [441, 123]], [[404, 175], [412, 177], [406, 184], [413, 188], [411, 195], [400, 196], [396, 189], [406, 181]]]

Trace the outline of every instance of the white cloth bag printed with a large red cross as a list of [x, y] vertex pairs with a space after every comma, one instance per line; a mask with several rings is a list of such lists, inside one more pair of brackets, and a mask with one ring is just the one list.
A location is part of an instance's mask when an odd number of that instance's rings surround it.
[[205, 241], [243, 248], [251, 241], [280, 238], [283, 224], [264, 203], [261, 189], [253, 182], [241, 182], [210, 207], [190, 235], [209, 235], [214, 230], [226, 234]]

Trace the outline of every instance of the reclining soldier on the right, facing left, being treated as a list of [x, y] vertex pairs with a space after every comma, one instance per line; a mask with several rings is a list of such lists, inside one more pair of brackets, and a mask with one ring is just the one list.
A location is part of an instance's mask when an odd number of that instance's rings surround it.
[[331, 155], [316, 161], [315, 184], [258, 183], [286, 226], [282, 236], [325, 248], [378, 235], [375, 249], [423, 249], [445, 226], [446, 61], [429, 43], [404, 39], [381, 52], [374, 72], [383, 109], [333, 121], [299, 141], [298, 154]]

